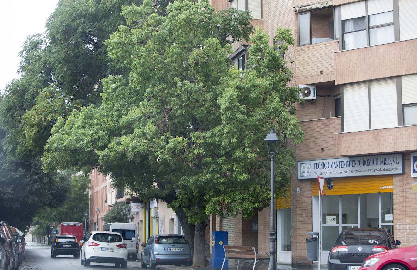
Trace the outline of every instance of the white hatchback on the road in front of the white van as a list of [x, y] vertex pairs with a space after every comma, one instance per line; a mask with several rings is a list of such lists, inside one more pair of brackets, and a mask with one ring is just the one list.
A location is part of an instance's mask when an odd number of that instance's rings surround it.
[[128, 264], [128, 250], [122, 235], [115, 232], [93, 231], [83, 242], [81, 247], [81, 264], [114, 263], [116, 267], [126, 268]]

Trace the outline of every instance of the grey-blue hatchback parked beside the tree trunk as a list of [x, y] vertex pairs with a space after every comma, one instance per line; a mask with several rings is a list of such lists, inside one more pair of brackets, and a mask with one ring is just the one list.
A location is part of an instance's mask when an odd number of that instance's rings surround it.
[[190, 265], [191, 247], [184, 235], [152, 235], [142, 244], [142, 268], [155, 269], [156, 265]]

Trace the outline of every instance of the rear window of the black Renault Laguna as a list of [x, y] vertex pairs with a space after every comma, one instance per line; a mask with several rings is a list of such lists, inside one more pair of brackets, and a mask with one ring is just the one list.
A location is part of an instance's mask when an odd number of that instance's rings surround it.
[[339, 245], [385, 245], [387, 236], [384, 233], [352, 232], [340, 235], [336, 244]]

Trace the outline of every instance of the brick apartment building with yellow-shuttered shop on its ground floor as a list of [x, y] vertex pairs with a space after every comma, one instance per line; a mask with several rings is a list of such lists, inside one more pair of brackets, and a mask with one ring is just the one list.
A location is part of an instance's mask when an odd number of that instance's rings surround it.
[[[417, 2], [211, 0], [211, 5], [251, 10], [270, 45], [276, 27], [291, 28], [295, 46], [284, 55], [294, 61], [289, 86], [309, 90], [296, 114], [304, 141], [287, 142], [296, 151], [297, 168], [290, 196], [276, 203], [277, 262], [311, 263], [305, 238], [320, 231], [317, 176], [333, 184], [324, 184], [321, 199], [322, 263], [345, 228], [387, 228], [402, 247], [415, 245]], [[249, 46], [235, 44], [230, 55], [241, 69]], [[98, 196], [91, 191], [90, 213], [95, 200], [104, 202]], [[270, 209], [250, 220], [211, 215], [206, 238], [211, 243], [211, 231], [227, 230], [229, 245], [269, 251], [269, 217]], [[139, 219], [134, 222], [139, 226]]]

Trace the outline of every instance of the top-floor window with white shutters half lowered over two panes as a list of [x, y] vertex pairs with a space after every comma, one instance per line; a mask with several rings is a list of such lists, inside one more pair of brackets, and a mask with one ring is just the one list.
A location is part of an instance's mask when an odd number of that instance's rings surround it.
[[366, 0], [341, 7], [343, 50], [394, 42], [392, 0]]

